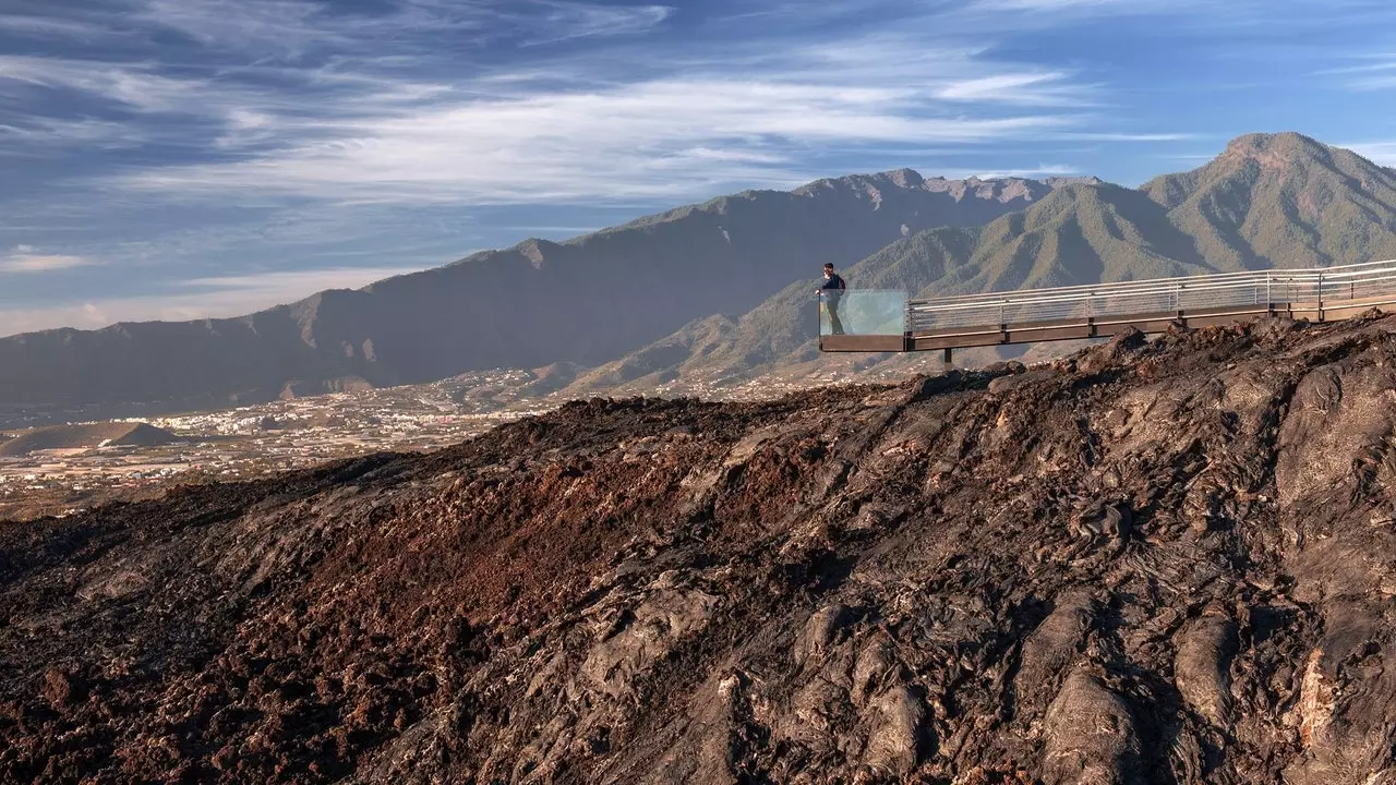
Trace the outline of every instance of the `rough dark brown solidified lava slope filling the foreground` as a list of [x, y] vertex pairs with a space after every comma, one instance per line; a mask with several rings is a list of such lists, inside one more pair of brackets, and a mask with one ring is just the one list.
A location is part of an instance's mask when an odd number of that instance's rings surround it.
[[1396, 781], [1396, 320], [0, 525], [0, 779]]

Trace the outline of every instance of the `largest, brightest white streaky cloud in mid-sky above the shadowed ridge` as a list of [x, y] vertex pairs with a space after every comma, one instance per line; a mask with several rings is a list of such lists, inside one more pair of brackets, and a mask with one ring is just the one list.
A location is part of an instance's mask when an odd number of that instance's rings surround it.
[[920, 115], [903, 88], [674, 80], [324, 123], [324, 135], [232, 163], [123, 184], [346, 201], [525, 203], [671, 197], [741, 180], [796, 183], [792, 144], [984, 142], [1062, 130], [1060, 115]]

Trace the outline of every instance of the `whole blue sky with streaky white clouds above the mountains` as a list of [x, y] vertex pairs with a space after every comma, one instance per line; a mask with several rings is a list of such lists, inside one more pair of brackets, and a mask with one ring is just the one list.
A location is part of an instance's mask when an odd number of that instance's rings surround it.
[[1396, 165], [1393, 101], [1390, 0], [0, 0], [0, 335], [853, 172]]

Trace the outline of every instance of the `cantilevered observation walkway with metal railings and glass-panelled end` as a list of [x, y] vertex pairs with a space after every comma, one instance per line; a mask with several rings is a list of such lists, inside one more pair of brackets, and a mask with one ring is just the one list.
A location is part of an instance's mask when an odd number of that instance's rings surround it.
[[[1106, 338], [1128, 330], [1235, 324], [1261, 316], [1350, 318], [1396, 305], [1396, 261], [907, 299], [849, 289], [819, 303], [821, 352], [924, 352]], [[838, 324], [835, 324], [835, 317]], [[840, 330], [835, 330], [839, 327]]]

